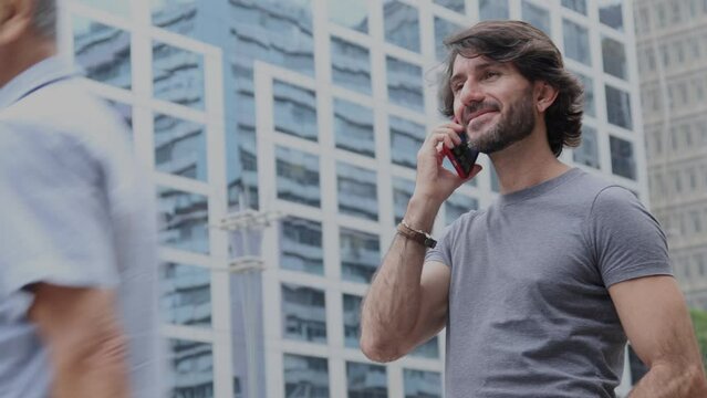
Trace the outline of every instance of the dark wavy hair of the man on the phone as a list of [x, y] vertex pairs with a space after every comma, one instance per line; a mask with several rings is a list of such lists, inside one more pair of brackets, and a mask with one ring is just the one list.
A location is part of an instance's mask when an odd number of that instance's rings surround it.
[[548, 143], [554, 156], [562, 148], [580, 145], [584, 90], [564, 69], [562, 54], [541, 30], [522, 21], [484, 21], [445, 40], [449, 51], [439, 86], [440, 112], [454, 116], [454, 94], [449, 86], [454, 61], [486, 56], [511, 62], [528, 81], [542, 81], [558, 90], [558, 97], [545, 111]]

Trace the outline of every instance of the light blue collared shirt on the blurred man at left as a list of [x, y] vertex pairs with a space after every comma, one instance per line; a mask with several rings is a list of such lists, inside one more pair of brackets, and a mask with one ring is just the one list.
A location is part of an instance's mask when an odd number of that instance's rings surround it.
[[75, 75], [51, 57], [0, 88], [0, 397], [49, 395], [35, 282], [115, 289], [134, 396], [158, 397], [153, 196], [123, 123]]

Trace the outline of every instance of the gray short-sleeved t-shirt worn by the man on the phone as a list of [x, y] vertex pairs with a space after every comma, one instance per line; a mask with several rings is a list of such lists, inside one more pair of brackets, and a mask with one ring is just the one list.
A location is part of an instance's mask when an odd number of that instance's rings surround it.
[[451, 224], [447, 398], [614, 397], [626, 336], [609, 286], [670, 275], [657, 221], [580, 169]]

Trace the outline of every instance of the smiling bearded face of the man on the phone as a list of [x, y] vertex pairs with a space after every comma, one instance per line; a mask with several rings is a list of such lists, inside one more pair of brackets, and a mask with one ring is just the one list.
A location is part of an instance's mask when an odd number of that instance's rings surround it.
[[505, 149], [536, 127], [533, 86], [512, 64], [457, 55], [449, 82], [455, 118], [475, 149]]

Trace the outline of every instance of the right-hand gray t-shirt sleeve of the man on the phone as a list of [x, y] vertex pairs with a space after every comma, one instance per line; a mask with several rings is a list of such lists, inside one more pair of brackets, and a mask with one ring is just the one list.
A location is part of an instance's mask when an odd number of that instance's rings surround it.
[[672, 275], [665, 233], [630, 190], [612, 186], [594, 199], [586, 230], [606, 287], [649, 275]]

